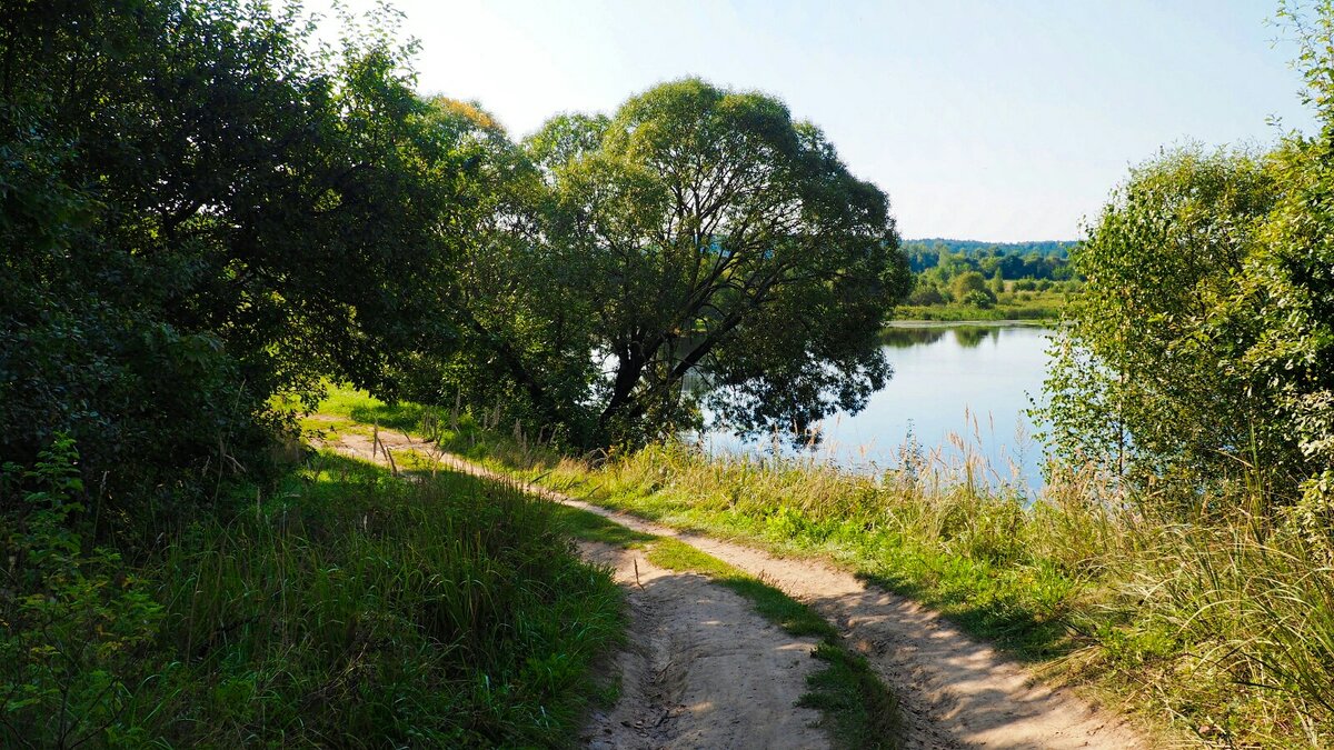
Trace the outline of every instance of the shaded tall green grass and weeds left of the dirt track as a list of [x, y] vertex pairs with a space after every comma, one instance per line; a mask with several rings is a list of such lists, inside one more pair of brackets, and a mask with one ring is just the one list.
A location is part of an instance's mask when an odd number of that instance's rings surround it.
[[620, 594], [548, 503], [320, 454], [131, 565], [68, 531], [72, 462], [7, 475], [0, 745], [563, 746], [607, 690]]

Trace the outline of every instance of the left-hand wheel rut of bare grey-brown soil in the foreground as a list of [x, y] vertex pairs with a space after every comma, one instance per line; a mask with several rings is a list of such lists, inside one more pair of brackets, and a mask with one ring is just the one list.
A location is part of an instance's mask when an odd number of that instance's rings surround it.
[[630, 645], [614, 667], [620, 698], [590, 718], [588, 747], [828, 747], [819, 711], [796, 706], [818, 667], [815, 639], [783, 633], [702, 575], [636, 550], [582, 548], [615, 569], [630, 606]]

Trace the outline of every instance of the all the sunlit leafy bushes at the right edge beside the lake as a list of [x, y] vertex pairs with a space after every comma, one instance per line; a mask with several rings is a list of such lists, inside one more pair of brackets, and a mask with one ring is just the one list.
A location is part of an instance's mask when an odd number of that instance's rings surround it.
[[[1334, 499], [1334, 7], [1281, 7], [1314, 137], [1183, 148], [1131, 172], [1074, 256], [1089, 276], [1049, 382], [1055, 443], [1178, 516], [1247, 484], [1329, 544]], [[1238, 492], [1227, 492], [1238, 494]], [[1286, 511], [1285, 511], [1286, 512]]]

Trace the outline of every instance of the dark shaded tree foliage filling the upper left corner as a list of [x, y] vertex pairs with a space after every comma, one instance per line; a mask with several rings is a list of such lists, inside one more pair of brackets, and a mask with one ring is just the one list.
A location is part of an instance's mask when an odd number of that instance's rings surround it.
[[0, 452], [71, 434], [123, 526], [263, 470], [269, 395], [386, 387], [450, 338], [454, 167], [384, 33], [312, 51], [259, 1], [57, 5], [0, 23]]

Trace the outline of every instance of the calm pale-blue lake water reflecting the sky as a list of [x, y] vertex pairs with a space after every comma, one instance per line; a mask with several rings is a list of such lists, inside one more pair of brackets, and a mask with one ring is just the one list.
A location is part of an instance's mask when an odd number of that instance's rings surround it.
[[[1042, 446], [1027, 416], [1030, 396], [1039, 396], [1051, 331], [1034, 326], [894, 327], [884, 354], [894, 376], [856, 415], [839, 414], [823, 423], [818, 455], [844, 466], [887, 468], [899, 464], [908, 440], [944, 462], [972, 452], [995, 472], [995, 480], [1042, 486]], [[951, 439], [951, 435], [954, 439]], [[712, 450], [760, 451], [712, 435]]]

